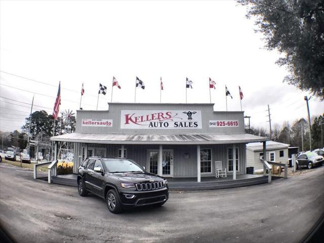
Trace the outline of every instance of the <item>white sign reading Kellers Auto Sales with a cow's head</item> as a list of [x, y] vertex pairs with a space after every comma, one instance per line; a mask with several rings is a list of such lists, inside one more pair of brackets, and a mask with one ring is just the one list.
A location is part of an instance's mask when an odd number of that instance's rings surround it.
[[121, 110], [120, 129], [202, 129], [201, 110]]

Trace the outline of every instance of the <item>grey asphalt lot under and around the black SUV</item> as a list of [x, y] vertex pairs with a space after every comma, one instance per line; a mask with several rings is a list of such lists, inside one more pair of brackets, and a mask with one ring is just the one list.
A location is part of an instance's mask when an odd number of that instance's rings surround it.
[[111, 214], [76, 187], [0, 164], [0, 223], [16, 242], [298, 242], [324, 212], [324, 166], [271, 184], [171, 192], [160, 208]]

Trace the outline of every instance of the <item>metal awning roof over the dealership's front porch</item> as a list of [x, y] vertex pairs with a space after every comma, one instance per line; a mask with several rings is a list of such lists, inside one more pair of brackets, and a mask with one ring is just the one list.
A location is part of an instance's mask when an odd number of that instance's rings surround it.
[[52, 141], [106, 144], [224, 144], [264, 142], [269, 138], [252, 134], [84, 134], [69, 133], [51, 137]]

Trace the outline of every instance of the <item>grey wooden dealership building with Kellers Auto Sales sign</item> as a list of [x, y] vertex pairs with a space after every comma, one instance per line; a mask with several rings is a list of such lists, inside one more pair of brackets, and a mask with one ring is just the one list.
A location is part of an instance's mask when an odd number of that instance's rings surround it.
[[51, 138], [74, 143], [73, 173], [89, 156], [126, 157], [148, 172], [173, 178], [246, 174], [246, 144], [266, 137], [245, 132], [243, 111], [213, 104], [110, 103], [109, 110], [77, 110], [75, 133]]

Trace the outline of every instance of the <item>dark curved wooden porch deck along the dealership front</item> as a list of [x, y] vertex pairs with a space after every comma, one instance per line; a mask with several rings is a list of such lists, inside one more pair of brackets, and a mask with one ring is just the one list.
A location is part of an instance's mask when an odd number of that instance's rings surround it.
[[[59, 175], [52, 178], [55, 184], [77, 186], [77, 175]], [[215, 178], [201, 177], [201, 182], [197, 182], [196, 177], [191, 178], [167, 178], [170, 190], [176, 191], [191, 191], [191, 190], [211, 190], [225, 189], [241, 186], [251, 186], [268, 182], [268, 176], [263, 175], [236, 175], [236, 180], [231, 176]]]

